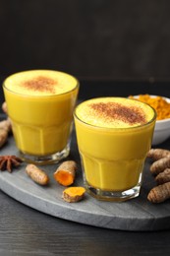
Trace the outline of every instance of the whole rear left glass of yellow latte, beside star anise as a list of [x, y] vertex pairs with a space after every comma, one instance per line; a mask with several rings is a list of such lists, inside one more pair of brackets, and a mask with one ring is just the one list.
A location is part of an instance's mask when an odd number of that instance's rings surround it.
[[3, 83], [8, 115], [23, 160], [48, 163], [70, 153], [79, 81], [53, 70], [29, 70]]

